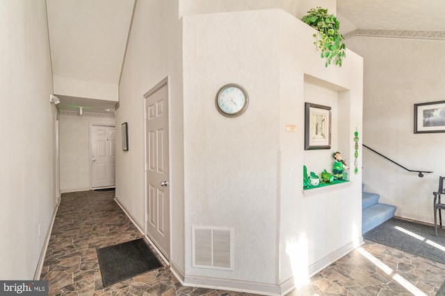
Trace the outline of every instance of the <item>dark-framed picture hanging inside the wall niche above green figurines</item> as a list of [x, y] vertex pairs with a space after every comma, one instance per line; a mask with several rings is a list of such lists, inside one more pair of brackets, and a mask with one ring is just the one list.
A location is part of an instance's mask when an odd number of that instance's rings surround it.
[[305, 150], [331, 148], [331, 107], [305, 103]]

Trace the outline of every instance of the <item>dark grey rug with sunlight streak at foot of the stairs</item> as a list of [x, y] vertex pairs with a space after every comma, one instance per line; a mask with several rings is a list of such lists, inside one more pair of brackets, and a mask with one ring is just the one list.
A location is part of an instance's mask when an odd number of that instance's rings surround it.
[[437, 234], [433, 226], [391, 218], [363, 238], [445, 264], [445, 229], [437, 229]]

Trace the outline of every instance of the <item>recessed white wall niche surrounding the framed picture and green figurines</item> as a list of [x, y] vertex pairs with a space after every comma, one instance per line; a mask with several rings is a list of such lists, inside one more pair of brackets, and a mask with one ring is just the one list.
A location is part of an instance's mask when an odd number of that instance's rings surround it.
[[[350, 143], [350, 134], [354, 132], [350, 130], [350, 90], [305, 74], [304, 98], [305, 103], [331, 107], [331, 148], [304, 151], [303, 164], [307, 167], [307, 173], [314, 172], [318, 176], [321, 175], [323, 170], [332, 173], [334, 164], [332, 154], [339, 151], [349, 166], [349, 169], [346, 169], [345, 172], [350, 179], [350, 173], [354, 171], [354, 147]], [[339, 185], [330, 185], [323, 187], [323, 189], [307, 189], [303, 193], [307, 197], [347, 186], [347, 184]]]

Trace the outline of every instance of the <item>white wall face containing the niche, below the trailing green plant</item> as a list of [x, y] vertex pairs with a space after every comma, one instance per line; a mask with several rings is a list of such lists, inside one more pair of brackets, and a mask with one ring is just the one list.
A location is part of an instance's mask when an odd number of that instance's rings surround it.
[[[340, 150], [353, 168], [354, 132], [362, 132], [363, 60], [347, 51], [342, 67], [325, 67], [312, 44], [314, 29], [298, 19], [280, 19], [280, 279], [301, 284], [361, 241], [362, 171], [349, 172], [349, 186], [302, 193], [302, 166], [317, 174], [332, 171]], [[332, 108], [332, 143], [327, 150], [304, 150], [305, 103]], [[286, 123], [297, 127], [286, 132]], [[359, 167], [361, 149], [358, 157]], [[316, 189], [312, 189], [316, 190]], [[329, 225], [329, 226], [328, 226]], [[329, 243], [326, 243], [329, 242]]]

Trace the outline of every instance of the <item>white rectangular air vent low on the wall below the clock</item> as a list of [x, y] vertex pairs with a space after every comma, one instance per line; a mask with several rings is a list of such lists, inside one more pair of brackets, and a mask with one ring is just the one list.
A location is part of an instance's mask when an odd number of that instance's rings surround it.
[[192, 227], [193, 267], [233, 270], [233, 229]]

